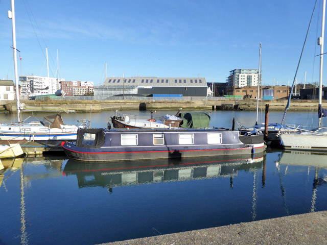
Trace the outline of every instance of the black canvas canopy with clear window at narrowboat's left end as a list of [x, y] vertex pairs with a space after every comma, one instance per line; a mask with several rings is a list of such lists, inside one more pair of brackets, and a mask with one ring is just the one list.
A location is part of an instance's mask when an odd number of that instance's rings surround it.
[[78, 129], [76, 146], [100, 148], [105, 141], [104, 129]]

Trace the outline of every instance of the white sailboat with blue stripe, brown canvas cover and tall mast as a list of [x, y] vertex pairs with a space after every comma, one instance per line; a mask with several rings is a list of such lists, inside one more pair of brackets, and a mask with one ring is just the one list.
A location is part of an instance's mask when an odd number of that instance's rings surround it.
[[[85, 128], [81, 125], [65, 125], [60, 113], [45, 116], [44, 121], [24, 122], [20, 117], [18, 71], [17, 71], [17, 49], [16, 49], [16, 27], [15, 27], [15, 5], [11, 0], [11, 11], [8, 17], [12, 20], [12, 40], [15, 70], [16, 108], [18, 122], [0, 125], [0, 139], [2, 140], [75, 140], [77, 130]], [[28, 119], [28, 118], [27, 118]], [[48, 124], [47, 124], [48, 122]]]

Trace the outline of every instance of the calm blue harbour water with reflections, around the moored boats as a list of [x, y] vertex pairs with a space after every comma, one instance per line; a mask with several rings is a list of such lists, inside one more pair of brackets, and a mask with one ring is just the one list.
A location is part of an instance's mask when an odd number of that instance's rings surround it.
[[[92, 127], [106, 127], [110, 115], [63, 119], [91, 118]], [[233, 117], [255, 121], [255, 112], [211, 115], [215, 127], [230, 128]], [[269, 122], [282, 116], [270, 112]], [[315, 117], [289, 112], [286, 123], [311, 125]], [[327, 209], [325, 155], [268, 148], [262, 155], [180, 161], [83, 163], [52, 156], [3, 162], [11, 167], [0, 186], [0, 244], [98, 244]]]

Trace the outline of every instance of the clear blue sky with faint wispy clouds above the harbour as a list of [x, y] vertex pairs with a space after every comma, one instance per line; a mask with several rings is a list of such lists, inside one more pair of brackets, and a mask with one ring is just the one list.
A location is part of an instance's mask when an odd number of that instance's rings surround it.
[[[318, 3], [317, 7], [321, 8]], [[204, 77], [259, 67], [264, 85], [293, 81], [314, 0], [16, 0], [18, 76], [103, 83], [107, 76]], [[10, 1], [0, 2], [0, 79], [14, 78]], [[317, 9], [298, 83], [318, 81], [321, 10]], [[325, 45], [326, 46], [326, 45]], [[315, 50], [316, 48], [316, 50]], [[326, 60], [327, 62], [327, 60]], [[315, 67], [313, 66], [315, 65]], [[326, 74], [327, 76], [327, 74]], [[274, 82], [275, 80], [275, 82]]]

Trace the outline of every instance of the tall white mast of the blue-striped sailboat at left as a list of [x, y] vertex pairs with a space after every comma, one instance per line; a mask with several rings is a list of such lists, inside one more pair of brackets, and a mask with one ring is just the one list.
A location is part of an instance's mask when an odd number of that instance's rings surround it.
[[17, 49], [16, 49], [16, 24], [15, 24], [15, 4], [14, 0], [11, 0], [11, 11], [8, 11], [8, 17], [12, 21], [12, 49], [14, 54], [14, 70], [15, 70], [15, 88], [16, 88], [16, 107], [17, 107], [17, 119], [20, 120], [20, 108], [19, 108], [19, 86], [18, 86], [18, 70], [17, 70]]

